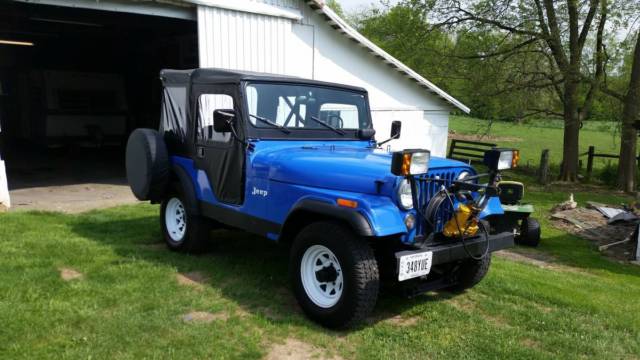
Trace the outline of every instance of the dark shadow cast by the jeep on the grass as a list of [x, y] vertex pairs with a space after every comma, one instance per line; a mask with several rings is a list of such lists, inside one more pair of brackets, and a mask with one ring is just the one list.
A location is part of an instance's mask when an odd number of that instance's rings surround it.
[[[213, 244], [208, 252], [187, 255], [171, 252], [164, 246], [155, 216], [113, 219], [87, 213], [73, 221], [72, 230], [86, 239], [109, 246], [123, 257], [121, 261], [156, 263], [175, 268], [187, 276], [195, 273], [195, 277], [204, 279], [203, 286], [235, 302], [243, 312], [276, 324], [322, 329], [304, 316], [292, 293], [288, 249], [267, 239], [243, 232], [215, 230], [211, 233]], [[167, 281], [175, 280], [167, 278]], [[373, 314], [360, 327], [399, 320], [400, 314], [418, 304], [449, 297], [451, 295], [442, 292], [407, 299], [385, 289]]]

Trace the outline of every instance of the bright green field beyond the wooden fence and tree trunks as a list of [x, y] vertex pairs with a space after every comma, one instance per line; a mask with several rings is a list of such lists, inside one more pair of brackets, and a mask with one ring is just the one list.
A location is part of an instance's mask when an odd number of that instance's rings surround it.
[[[540, 163], [543, 149], [549, 149], [551, 163], [556, 167], [562, 161], [562, 121], [560, 120], [532, 120], [528, 123], [517, 124], [506, 121], [493, 121], [471, 117], [452, 116], [449, 123], [450, 131], [456, 134], [488, 135], [483, 140], [520, 149], [523, 166], [536, 167]], [[580, 153], [585, 153], [589, 146], [595, 146], [597, 153], [617, 155], [620, 151], [620, 131], [618, 123], [613, 122], [585, 122], [580, 131]], [[583, 169], [587, 164], [587, 157], [582, 156]], [[596, 158], [594, 168], [601, 169], [608, 164], [617, 165], [615, 159]]]

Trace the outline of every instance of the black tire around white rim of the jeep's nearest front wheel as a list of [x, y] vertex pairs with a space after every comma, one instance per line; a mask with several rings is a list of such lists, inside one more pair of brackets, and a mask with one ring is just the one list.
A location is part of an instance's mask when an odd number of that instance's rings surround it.
[[[316, 245], [329, 249], [341, 268], [342, 290], [340, 295], [336, 295], [337, 302], [331, 306], [319, 306], [303, 284], [303, 257], [308, 251], [318, 248]], [[308, 225], [296, 237], [290, 261], [294, 294], [302, 310], [313, 321], [329, 328], [346, 328], [362, 321], [373, 310], [380, 288], [378, 264], [366, 240], [349, 228], [333, 222]], [[318, 279], [318, 274], [325, 269], [329, 268], [313, 270], [315, 278]], [[308, 276], [306, 278], [309, 279]], [[335, 281], [333, 284], [336, 286]]]

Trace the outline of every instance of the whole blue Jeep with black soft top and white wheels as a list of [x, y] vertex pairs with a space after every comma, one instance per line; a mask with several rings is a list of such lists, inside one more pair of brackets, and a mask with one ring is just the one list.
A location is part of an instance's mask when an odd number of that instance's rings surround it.
[[126, 166], [133, 193], [162, 204], [167, 246], [200, 251], [220, 227], [288, 246], [293, 291], [318, 323], [362, 320], [381, 285], [472, 287], [513, 245], [497, 182], [516, 150], [489, 150], [477, 174], [428, 149], [382, 148], [362, 88], [218, 69], [160, 77], [160, 130], [131, 134]]

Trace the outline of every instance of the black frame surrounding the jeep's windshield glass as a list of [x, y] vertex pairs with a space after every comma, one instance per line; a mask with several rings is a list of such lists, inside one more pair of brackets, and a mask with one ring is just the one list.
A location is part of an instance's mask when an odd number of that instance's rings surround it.
[[[354, 94], [362, 95], [364, 100], [364, 116], [367, 119], [368, 126], [361, 129], [373, 129], [373, 122], [371, 119], [371, 109], [369, 107], [369, 96], [366, 91], [356, 91], [347, 87], [340, 86], [328, 86], [328, 85], [320, 85], [314, 84], [312, 82], [303, 82], [303, 81], [260, 81], [260, 80], [247, 80], [243, 81], [241, 86], [242, 88], [242, 108], [243, 112], [246, 114], [244, 116], [244, 121], [247, 124], [246, 130], [249, 138], [257, 138], [257, 139], [284, 139], [284, 140], [362, 140], [359, 138], [358, 133], [360, 129], [340, 129], [344, 132], [344, 135], [340, 135], [337, 132], [326, 128], [295, 128], [295, 127], [287, 127], [286, 129], [290, 131], [290, 133], [284, 133], [282, 130], [275, 127], [261, 127], [254, 125], [249, 119], [249, 104], [248, 104], [248, 96], [247, 96], [247, 87], [251, 84], [274, 84], [274, 85], [291, 85], [291, 86], [308, 86], [308, 87], [316, 87], [316, 88], [324, 88], [331, 90], [339, 90], [345, 92], [351, 92]], [[271, 119], [270, 119], [271, 120]]]

